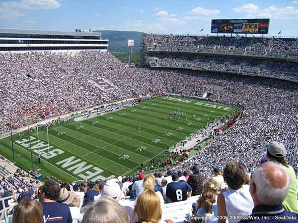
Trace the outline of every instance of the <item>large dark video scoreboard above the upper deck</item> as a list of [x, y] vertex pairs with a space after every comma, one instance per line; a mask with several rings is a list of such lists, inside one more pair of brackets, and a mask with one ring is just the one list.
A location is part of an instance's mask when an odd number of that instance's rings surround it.
[[211, 33], [268, 34], [270, 19], [212, 19]]

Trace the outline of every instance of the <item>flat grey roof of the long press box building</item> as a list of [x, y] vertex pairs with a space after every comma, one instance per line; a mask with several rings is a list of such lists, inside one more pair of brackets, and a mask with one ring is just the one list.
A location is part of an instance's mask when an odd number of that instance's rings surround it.
[[0, 28], [0, 33], [5, 34], [32, 34], [32, 35], [61, 35], [61, 36], [101, 36], [101, 33], [93, 32], [62, 32], [47, 30], [31, 30], [31, 29], [7, 29]]

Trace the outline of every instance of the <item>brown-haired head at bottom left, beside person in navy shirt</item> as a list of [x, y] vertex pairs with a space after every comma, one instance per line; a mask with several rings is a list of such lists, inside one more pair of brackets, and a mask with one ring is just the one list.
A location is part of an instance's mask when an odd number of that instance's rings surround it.
[[42, 223], [42, 206], [36, 200], [24, 199], [13, 211], [12, 223]]

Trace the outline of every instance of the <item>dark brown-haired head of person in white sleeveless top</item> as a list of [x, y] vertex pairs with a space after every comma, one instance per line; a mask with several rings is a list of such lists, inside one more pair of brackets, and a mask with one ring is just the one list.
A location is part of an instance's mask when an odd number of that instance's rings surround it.
[[246, 181], [246, 171], [238, 162], [229, 162], [224, 167], [224, 181], [232, 190], [238, 190]]

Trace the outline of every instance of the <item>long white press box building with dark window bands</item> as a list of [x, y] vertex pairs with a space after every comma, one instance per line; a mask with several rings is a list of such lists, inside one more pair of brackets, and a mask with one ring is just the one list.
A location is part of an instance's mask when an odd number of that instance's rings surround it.
[[0, 53], [28, 51], [72, 53], [86, 50], [106, 52], [108, 42], [107, 39], [101, 38], [101, 33], [91, 30], [59, 32], [0, 28]]

